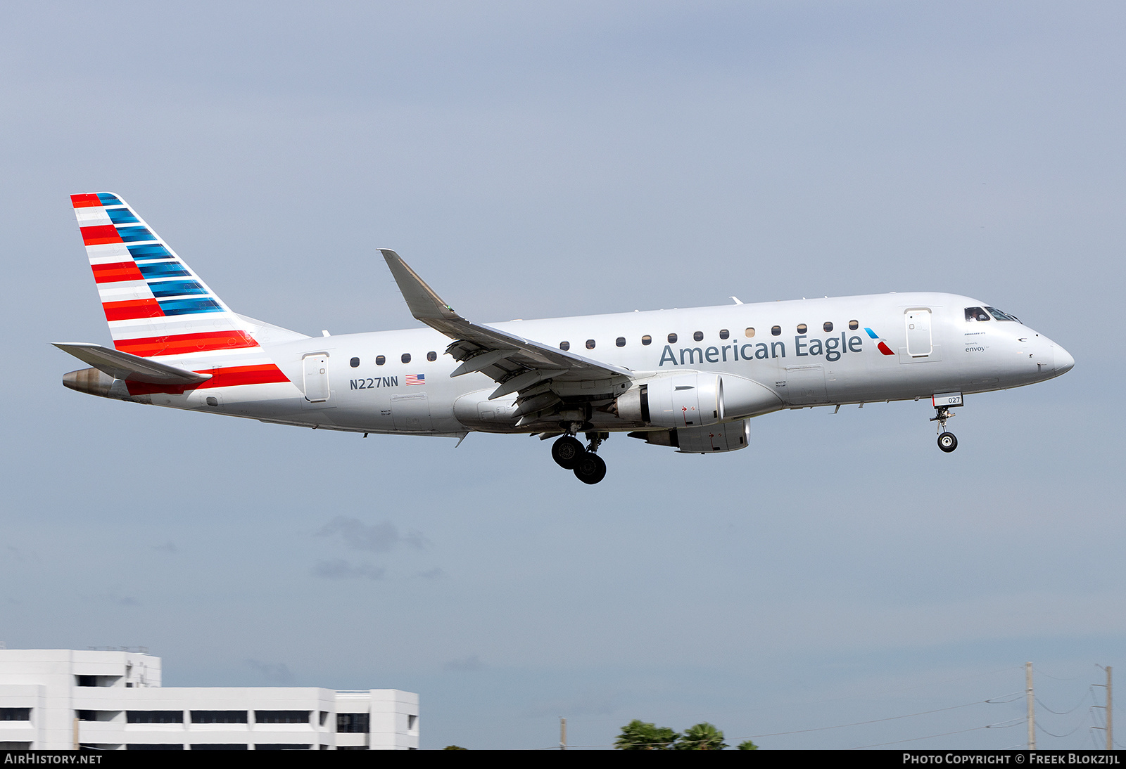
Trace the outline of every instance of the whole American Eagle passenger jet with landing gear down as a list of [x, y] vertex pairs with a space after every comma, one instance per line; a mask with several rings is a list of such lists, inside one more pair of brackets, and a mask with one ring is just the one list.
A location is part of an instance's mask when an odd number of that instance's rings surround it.
[[[1074, 359], [1017, 317], [951, 293], [801, 299], [477, 324], [388, 248], [425, 326], [306, 336], [239, 315], [119, 196], [71, 196], [114, 346], [55, 343], [72, 390], [368, 434], [554, 438], [584, 483], [611, 433], [680, 453], [745, 449], [753, 417], [930, 399], [938, 446], [965, 396], [1058, 377]], [[586, 445], [580, 440], [586, 438]]]

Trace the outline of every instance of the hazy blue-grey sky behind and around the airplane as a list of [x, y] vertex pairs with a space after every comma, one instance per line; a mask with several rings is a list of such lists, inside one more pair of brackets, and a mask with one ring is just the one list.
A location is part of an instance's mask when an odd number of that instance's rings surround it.
[[[5, 17], [8, 648], [143, 645], [167, 686], [417, 691], [428, 749], [549, 749], [561, 716], [602, 749], [634, 718], [763, 749], [1022, 747], [1031, 661], [1038, 747], [1102, 744], [1100, 666], [1126, 666], [1121, 3]], [[525, 436], [64, 389], [50, 343], [109, 341], [68, 196], [106, 190], [235, 311], [311, 335], [419, 325], [392, 247], [482, 322], [951, 291], [1076, 364], [967, 398], [953, 454], [927, 404], [814, 408], [724, 455], [614, 437], [586, 487]]]

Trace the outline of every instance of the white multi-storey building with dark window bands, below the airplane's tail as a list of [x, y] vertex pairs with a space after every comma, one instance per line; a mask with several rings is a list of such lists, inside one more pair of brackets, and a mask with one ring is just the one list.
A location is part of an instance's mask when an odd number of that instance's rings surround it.
[[415, 750], [397, 689], [162, 687], [142, 652], [0, 649], [0, 750]]

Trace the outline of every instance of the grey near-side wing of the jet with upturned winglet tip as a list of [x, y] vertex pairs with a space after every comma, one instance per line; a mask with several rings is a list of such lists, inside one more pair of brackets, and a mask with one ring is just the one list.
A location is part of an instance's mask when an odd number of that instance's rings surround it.
[[628, 369], [564, 352], [533, 340], [466, 320], [434, 292], [399, 254], [381, 248], [399, 283], [406, 306], [417, 319], [441, 332], [453, 343], [446, 352], [461, 361], [450, 377], [480, 371], [497, 382], [489, 399], [518, 393], [520, 424], [536, 414], [557, 409], [569, 401], [611, 399], [633, 381]]

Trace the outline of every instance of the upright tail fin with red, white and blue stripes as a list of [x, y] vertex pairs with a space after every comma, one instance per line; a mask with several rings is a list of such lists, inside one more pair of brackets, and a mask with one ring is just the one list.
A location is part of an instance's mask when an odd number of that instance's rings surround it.
[[118, 196], [72, 194], [71, 202], [117, 350], [155, 358], [258, 346], [252, 326]]

